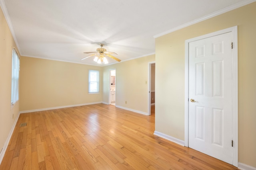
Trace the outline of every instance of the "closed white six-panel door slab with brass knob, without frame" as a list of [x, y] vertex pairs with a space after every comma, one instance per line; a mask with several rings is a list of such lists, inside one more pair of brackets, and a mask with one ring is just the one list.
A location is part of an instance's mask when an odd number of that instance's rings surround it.
[[232, 164], [232, 33], [189, 43], [188, 146]]

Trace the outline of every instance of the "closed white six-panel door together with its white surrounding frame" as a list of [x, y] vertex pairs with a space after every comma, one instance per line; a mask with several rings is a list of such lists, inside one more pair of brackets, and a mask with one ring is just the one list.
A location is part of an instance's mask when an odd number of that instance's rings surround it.
[[185, 146], [237, 167], [237, 26], [185, 44]]

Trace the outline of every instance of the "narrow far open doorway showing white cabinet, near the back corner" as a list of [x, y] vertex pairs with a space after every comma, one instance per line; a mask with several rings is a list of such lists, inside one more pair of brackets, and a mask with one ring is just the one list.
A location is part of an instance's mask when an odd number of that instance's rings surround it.
[[109, 104], [116, 106], [116, 69], [110, 70], [109, 75], [110, 75]]

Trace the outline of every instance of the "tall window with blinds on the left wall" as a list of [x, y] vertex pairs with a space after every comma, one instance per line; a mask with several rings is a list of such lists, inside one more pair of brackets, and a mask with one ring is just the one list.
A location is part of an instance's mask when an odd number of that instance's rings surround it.
[[16, 49], [12, 49], [12, 96], [11, 104], [14, 105], [19, 100], [19, 70], [20, 58]]

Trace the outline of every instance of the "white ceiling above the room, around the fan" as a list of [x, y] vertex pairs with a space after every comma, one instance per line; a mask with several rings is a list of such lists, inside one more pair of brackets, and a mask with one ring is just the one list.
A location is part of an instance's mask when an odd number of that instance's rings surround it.
[[[122, 61], [154, 54], [154, 35], [255, 0], [0, 0], [22, 56], [80, 60], [104, 43]], [[108, 58], [109, 64], [117, 63]]]

